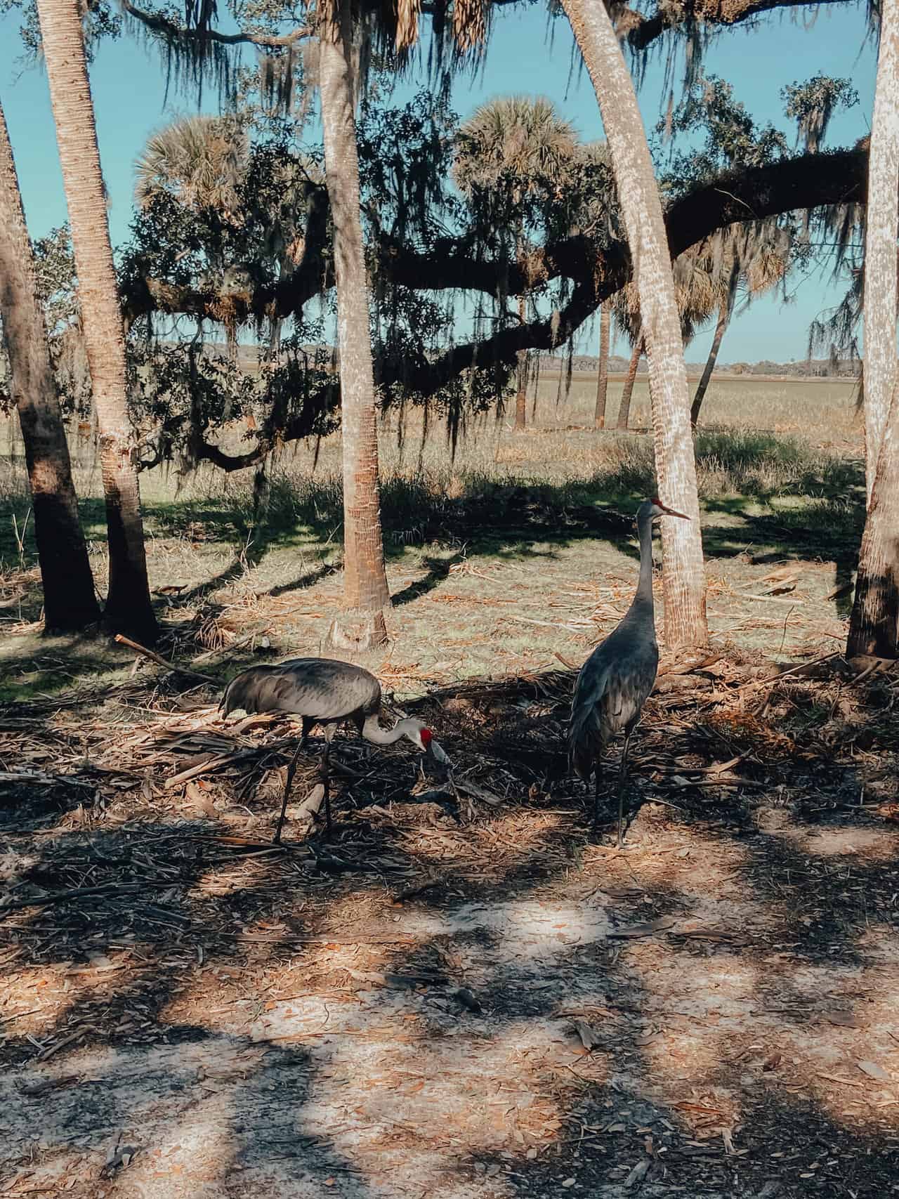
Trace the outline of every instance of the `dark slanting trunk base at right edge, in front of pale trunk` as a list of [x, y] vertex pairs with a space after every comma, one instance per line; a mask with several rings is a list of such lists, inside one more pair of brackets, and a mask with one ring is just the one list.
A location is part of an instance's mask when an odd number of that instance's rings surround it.
[[[895, 186], [895, 185], [894, 185]], [[899, 653], [899, 382], [882, 434], [877, 474], [858, 555], [846, 656]]]

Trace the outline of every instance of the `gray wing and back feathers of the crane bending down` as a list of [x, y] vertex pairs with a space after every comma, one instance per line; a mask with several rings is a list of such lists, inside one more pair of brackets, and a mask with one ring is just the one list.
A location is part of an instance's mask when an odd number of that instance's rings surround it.
[[338, 721], [355, 712], [376, 712], [381, 685], [361, 667], [333, 658], [291, 658], [277, 665], [251, 667], [225, 688], [221, 707], [253, 712], [291, 712], [316, 721]]

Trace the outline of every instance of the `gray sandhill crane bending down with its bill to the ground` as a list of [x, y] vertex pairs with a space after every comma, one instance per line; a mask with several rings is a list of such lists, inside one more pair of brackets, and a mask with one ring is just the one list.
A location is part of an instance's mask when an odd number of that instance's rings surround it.
[[249, 670], [231, 679], [218, 706], [224, 716], [240, 707], [247, 715], [288, 712], [302, 717], [300, 743], [288, 766], [284, 802], [274, 831], [276, 845], [280, 843], [280, 830], [284, 825], [296, 763], [306, 748], [314, 724], [324, 725], [325, 730], [321, 783], [325, 788], [325, 821], [328, 836], [331, 835], [328, 758], [331, 740], [338, 724], [351, 721], [361, 736], [379, 746], [393, 745], [400, 737], [409, 737], [412, 745], [424, 749], [440, 765], [446, 766], [450, 761], [422, 721], [399, 721], [392, 729], [382, 729], [378, 723], [378, 715], [381, 711], [381, 685], [368, 670], [349, 662], [338, 662], [333, 658], [291, 658], [278, 665], [251, 667]]

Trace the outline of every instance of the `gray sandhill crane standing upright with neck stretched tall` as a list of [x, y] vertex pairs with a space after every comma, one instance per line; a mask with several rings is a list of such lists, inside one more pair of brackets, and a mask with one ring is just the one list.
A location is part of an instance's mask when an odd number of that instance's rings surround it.
[[644, 500], [636, 510], [640, 538], [640, 578], [636, 595], [619, 626], [597, 645], [580, 668], [568, 724], [568, 761], [585, 782], [596, 776], [593, 829], [599, 819], [602, 752], [625, 730], [619, 770], [619, 849], [622, 840], [625, 770], [630, 735], [640, 722], [642, 705], [656, 682], [658, 645], [652, 603], [652, 523], [683, 512], [665, 507], [659, 499]]

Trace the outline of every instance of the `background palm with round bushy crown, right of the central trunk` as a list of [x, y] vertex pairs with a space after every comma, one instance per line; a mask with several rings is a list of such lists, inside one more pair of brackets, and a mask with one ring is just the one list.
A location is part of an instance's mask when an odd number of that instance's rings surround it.
[[[573, 126], [542, 96], [501, 96], [482, 104], [459, 126], [453, 179], [469, 197], [478, 197], [488, 225], [514, 229], [514, 252], [526, 253], [523, 203], [538, 194], [557, 197], [577, 150]], [[526, 319], [526, 295], [518, 315]], [[518, 351], [515, 428], [524, 429], [527, 399], [527, 350]]]

